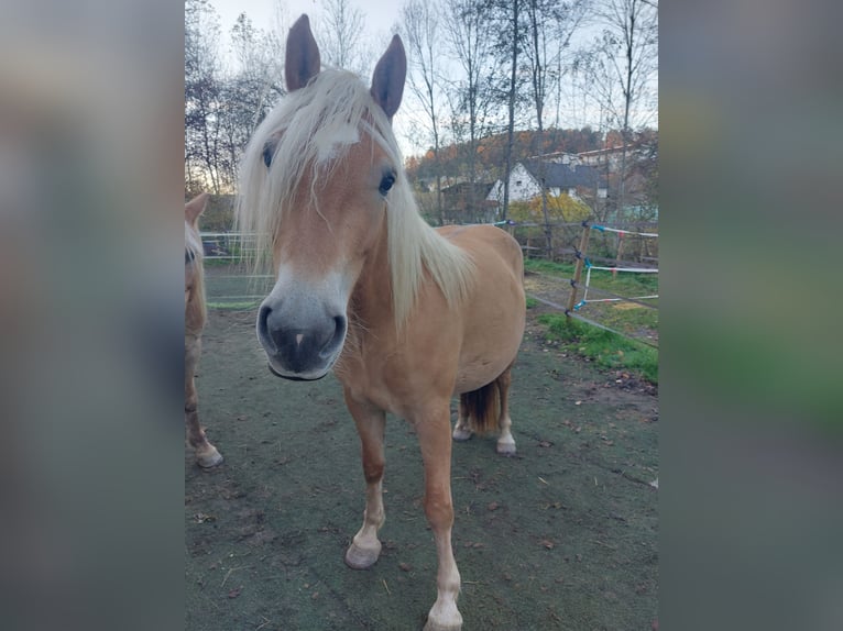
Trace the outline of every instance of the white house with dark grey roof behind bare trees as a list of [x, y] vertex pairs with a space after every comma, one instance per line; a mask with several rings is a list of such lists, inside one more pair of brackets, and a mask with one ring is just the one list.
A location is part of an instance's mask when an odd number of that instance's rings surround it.
[[[574, 199], [605, 199], [605, 176], [591, 166], [577, 164], [577, 160], [548, 162], [526, 159], [519, 162], [510, 173], [510, 201], [527, 201], [541, 195], [540, 181], [544, 168], [544, 182], [547, 192], [552, 196], [567, 193]], [[503, 181], [497, 180], [486, 197], [496, 204], [503, 203]]]

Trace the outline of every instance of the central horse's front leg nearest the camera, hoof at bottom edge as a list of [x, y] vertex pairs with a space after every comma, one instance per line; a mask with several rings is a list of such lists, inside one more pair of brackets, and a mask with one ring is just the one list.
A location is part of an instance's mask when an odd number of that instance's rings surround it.
[[462, 616], [457, 609], [460, 573], [451, 549], [451, 436], [449, 402], [414, 419], [425, 465], [425, 514], [434, 531], [438, 572], [436, 602], [427, 615], [425, 631], [458, 631]]

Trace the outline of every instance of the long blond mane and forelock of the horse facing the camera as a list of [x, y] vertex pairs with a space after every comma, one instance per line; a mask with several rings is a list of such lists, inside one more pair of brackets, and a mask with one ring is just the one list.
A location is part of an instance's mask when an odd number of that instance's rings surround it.
[[[448, 303], [457, 305], [468, 296], [473, 263], [421, 219], [392, 124], [360, 78], [344, 70], [322, 70], [306, 87], [287, 95], [259, 125], [247, 147], [236, 225], [239, 232], [255, 235], [254, 252], [247, 253], [252, 255], [255, 270], [267, 269], [273, 237], [283, 230], [284, 215], [293, 208], [307, 169], [315, 199], [317, 182], [330, 177], [331, 166], [347, 155], [349, 129], [369, 134], [397, 171], [387, 196], [386, 222], [396, 324], [401, 326], [412, 312], [426, 273]], [[263, 153], [273, 144], [275, 158], [267, 168]]]

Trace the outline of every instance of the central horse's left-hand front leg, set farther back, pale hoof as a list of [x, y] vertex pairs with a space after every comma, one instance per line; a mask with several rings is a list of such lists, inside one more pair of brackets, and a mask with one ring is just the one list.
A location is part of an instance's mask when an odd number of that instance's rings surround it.
[[354, 569], [364, 569], [374, 565], [381, 554], [377, 530], [386, 519], [383, 510], [383, 432], [386, 414], [383, 410], [353, 400], [348, 390], [346, 405], [360, 434], [365, 477], [363, 525], [346, 552], [346, 564]]

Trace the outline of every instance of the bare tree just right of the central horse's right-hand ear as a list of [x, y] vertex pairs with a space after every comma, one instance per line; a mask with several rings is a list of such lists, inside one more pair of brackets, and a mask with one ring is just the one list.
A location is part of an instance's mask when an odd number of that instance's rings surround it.
[[442, 173], [439, 160], [439, 14], [437, 0], [408, 0], [402, 8], [404, 32], [409, 48], [410, 73], [408, 86], [429, 121], [434, 145], [434, 177], [436, 178], [436, 217], [445, 223], [442, 213]]

